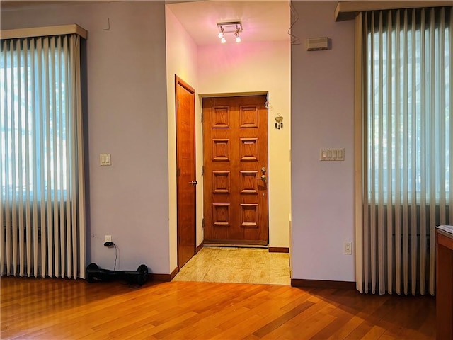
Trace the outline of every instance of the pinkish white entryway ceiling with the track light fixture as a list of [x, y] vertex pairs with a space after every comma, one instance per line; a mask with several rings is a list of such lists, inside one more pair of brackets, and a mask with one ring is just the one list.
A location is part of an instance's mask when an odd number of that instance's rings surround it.
[[[219, 44], [217, 22], [241, 21], [243, 42], [290, 40], [289, 1], [185, 1], [168, 3], [197, 45]], [[234, 35], [226, 35], [226, 43]], [[234, 42], [235, 43], [235, 42]]]

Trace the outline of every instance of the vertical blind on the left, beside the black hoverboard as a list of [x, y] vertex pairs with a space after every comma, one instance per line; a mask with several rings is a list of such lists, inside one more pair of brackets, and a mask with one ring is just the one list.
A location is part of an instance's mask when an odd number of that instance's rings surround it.
[[84, 278], [79, 35], [1, 40], [2, 275]]

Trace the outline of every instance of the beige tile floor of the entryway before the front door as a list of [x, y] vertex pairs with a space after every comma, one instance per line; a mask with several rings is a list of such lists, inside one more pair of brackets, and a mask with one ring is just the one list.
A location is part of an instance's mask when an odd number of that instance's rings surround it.
[[268, 249], [204, 246], [175, 281], [290, 285], [289, 254]]

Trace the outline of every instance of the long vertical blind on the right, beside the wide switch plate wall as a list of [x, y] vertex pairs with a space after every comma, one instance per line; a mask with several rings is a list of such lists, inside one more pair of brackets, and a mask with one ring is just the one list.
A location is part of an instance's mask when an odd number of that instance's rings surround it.
[[453, 222], [452, 7], [362, 13], [365, 293], [435, 291]]

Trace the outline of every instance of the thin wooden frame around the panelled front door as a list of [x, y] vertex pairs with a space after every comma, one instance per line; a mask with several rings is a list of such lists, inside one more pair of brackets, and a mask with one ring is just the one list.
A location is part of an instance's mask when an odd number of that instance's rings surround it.
[[[200, 110], [201, 110], [201, 122], [204, 123], [204, 113], [203, 113], [203, 100], [205, 98], [217, 98], [217, 97], [248, 97], [248, 96], [266, 96], [266, 98], [268, 98], [269, 96], [269, 91], [251, 91], [251, 92], [229, 92], [229, 93], [212, 93], [212, 94], [199, 94], [198, 97], [200, 98]], [[268, 103], [268, 101], [266, 101], [266, 104]], [[269, 108], [268, 106], [265, 104], [265, 107], [267, 109], [267, 112], [268, 112], [268, 125], [266, 125], [266, 129], [267, 129], [267, 141], [266, 141], [266, 146], [268, 148], [268, 171], [269, 171]], [[204, 152], [204, 149], [205, 149], [205, 138], [203, 136], [203, 127], [201, 128], [201, 158], [202, 158], [202, 182], [204, 183], [205, 181], [205, 178], [203, 176], [203, 173], [205, 171], [205, 152]], [[203, 185], [204, 187], [204, 185]], [[267, 195], [268, 195], [268, 248], [271, 249], [270, 247], [270, 227], [269, 227], [269, 201], [270, 201], [270, 191], [268, 190], [267, 191]], [[202, 190], [202, 211], [204, 213], [205, 211], [205, 191]], [[202, 241], [202, 244], [205, 244], [205, 218], [203, 217], [202, 219], [202, 232], [203, 232], [203, 241]], [[241, 244], [238, 244], [239, 246]], [[256, 247], [260, 247], [259, 245], [255, 245]], [[273, 251], [274, 252], [274, 251]], [[287, 252], [287, 251], [277, 251], [277, 252]], [[196, 253], [195, 253], [196, 254]]]

